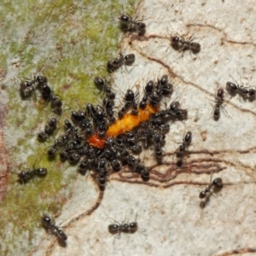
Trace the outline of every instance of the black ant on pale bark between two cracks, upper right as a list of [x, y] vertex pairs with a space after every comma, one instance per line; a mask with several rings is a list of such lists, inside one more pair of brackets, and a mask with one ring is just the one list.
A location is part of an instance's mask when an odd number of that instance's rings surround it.
[[[192, 51], [193, 54], [196, 54], [196, 53], [200, 52], [201, 45], [198, 44], [198, 43], [193, 42], [194, 41], [194, 39], [193, 39], [194, 34], [192, 34], [189, 37], [188, 41], [186, 41], [185, 38], [180, 36], [178, 33], [177, 33], [177, 35], [178, 35], [178, 37], [177, 36], [176, 37], [171, 37], [170, 41], [171, 41], [172, 47], [174, 49], [178, 49], [178, 52], [185, 51], [186, 49], [189, 49], [190, 51]], [[166, 49], [166, 51], [167, 51], [167, 49]]]

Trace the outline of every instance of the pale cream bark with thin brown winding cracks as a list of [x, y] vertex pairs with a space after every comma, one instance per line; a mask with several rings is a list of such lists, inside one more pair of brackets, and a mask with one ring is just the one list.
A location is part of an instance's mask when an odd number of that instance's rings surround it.
[[[139, 1], [136, 14], [147, 31], [143, 37], [124, 34], [121, 40], [121, 50], [134, 53], [136, 63], [113, 74], [119, 98], [131, 87], [142, 96], [148, 79], [168, 74], [174, 92], [167, 105], [178, 99], [189, 118], [170, 122], [161, 163], [150, 148], [139, 155], [150, 169], [148, 182], [126, 167], [111, 175], [104, 191], [90, 175], [77, 176], [56, 219], [67, 244], [38, 229], [30, 254], [256, 254], [255, 100], [225, 93], [220, 118], [212, 118], [216, 90], [235, 82], [230, 76], [255, 88], [255, 4]], [[201, 51], [193, 55], [170, 47], [171, 35], [177, 33], [186, 39], [195, 33]], [[192, 144], [177, 166], [175, 152], [186, 131], [192, 131]], [[224, 185], [218, 193], [212, 190], [201, 207], [198, 195], [211, 174]], [[122, 223], [136, 215], [140, 229], [135, 234], [108, 233], [113, 219]]]

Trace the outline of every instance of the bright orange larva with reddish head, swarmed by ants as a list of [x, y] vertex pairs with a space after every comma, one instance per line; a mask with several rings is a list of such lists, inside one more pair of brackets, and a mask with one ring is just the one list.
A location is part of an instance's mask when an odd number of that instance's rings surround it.
[[113, 125], [108, 127], [106, 131], [106, 137], [98, 137], [95, 133], [87, 139], [88, 143], [95, 148], [104, 148], [106, 143], [106, 138], [108, 137], [118, 137], [120, 134], [126, 131], [131, 131], [142, 122], [147, 121], [150, 118], [151, 113], [158, 113], [159, 106], [152, 107], [149, 104], [146, 108], [138, 108], [138, 114], [132, 115], [131, 113], [126, 113], [122, 119], [118, 119]]

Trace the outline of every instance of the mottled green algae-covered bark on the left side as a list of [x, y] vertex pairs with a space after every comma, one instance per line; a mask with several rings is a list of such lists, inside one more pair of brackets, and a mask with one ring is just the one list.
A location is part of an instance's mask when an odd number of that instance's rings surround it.
[[[125, 11], [131, 13], [134, 4], [129, 1]], [[108, 77], [107, 60], [117, 55], [122, 8], [117, 1], [26, 0], [22, 4], [4, 3], [1, 13], [5, 22], [0, 32], [0, 59], [1, 68], [7, 72], [2, 86], [7, 88], [9, 101], [3, 130], [13, 173], [1, 203], [0, 239], [3, 255], [26, 254], [37, 245], [34, 237], [38, 231], [44, 233], [42, 214], [59, 215], [79, 177], [76, 167], [62, 163], [58, 155], [49, 160], [47, 148], [64, 133], [63, 122], [70, 116], [70, 108], [77, 110], [87, 102], [101, 102], [102, 92], [95, 88], [94, 78]], [[19, 65], [12, 63], [13, 58]], [[49, 102], [40, 99], [39, 91], [21, 99], [20, 80], [35, 75], [46, 76], [54, 93], [61, 96], [61, 116]], [[58, 117], [58, 130], [45, 143], [39, 143], [37, 134], [44, 131], [51, 116]], [[47, 176], [20, 183], [15, 173], [33, 166], [47, 168]]]

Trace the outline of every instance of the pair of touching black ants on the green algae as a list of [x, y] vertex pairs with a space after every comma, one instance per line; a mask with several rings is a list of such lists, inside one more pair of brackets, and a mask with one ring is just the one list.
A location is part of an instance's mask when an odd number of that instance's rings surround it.
[[48, 80], [44, 76], [37, 76], [34, 79], [27, 79], [25, 82], [20, 83], [20, 95], [22, 97], [32, 96], [36, 90], [40, 90], [44, 102], [49, 103], [57, 112], [61, 112], [62, 102], [58, 96], [55, 96], [53, 90], [49, 88]]

